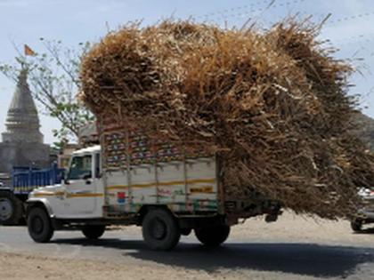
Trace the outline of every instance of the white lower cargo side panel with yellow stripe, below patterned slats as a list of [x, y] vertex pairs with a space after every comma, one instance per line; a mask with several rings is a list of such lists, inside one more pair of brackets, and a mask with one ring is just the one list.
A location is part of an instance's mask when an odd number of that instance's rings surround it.
[[209, 157], [107, 172], [107, 201], [113, 212], [137, 212], [145, 204], [167, 204], [175, 212], [213, 212], [215, 168], [215, 157]]

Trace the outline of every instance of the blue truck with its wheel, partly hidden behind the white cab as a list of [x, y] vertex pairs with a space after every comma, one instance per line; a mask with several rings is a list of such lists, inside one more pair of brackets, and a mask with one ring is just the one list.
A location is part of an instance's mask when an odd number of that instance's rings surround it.
[[28, 194], [38, 187], [60, 184], [64, 169], [13, 167], [9, 186], [0, 186], [0, 225], [18, 225], [24, 220], [24, 203]]

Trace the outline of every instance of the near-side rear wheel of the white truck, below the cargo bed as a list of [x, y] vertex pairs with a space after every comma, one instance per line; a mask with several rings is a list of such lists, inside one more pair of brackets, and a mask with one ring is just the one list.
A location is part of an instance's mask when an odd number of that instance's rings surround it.
[[181, 231], [170, 212], [150, 210], [142, 220], [142, 237], [152, 250], [169, 251], [178, 244]]

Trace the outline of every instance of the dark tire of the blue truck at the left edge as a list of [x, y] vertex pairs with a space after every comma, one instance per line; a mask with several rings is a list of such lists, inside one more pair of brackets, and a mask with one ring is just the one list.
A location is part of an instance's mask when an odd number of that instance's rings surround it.
[[11, 192], [0, 192], [0, 225], [18, 225], [23, 216], [23, 204]]

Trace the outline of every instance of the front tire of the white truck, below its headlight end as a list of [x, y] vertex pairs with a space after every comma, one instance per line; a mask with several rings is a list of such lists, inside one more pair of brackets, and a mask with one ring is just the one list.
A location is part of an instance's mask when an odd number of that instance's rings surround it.
[[31, 208], [28, 212], [28, 234], [37, 243], [47, 243], [53, 236], [53, 226], [45, 209]]

